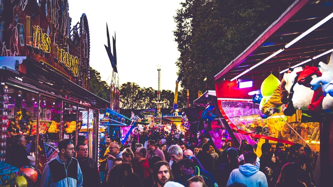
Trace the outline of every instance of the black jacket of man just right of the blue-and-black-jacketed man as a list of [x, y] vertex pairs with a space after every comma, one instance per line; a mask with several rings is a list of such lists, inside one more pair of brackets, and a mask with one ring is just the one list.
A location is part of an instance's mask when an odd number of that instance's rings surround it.
[[98, 173], [97, 163], [92, 158], [81, 160], [77, 158], [83, 176], [83, 187], [101, 186], [100, 174]]

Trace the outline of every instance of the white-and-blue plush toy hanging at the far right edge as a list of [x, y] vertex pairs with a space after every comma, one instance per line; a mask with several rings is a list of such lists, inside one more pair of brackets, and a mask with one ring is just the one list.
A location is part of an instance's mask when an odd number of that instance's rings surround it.
[[[321, 77], [314, 78], [310, 85], [312, 90], [316, 90], [321, 86], [324, 93], [330, 93], [332, 86], [330, 83], [333, 80], [333, 53], [331, 53], [330, 61], [328, 64], [319, 62], [319, 71], [322, 73]], [[328, 113], [333, 113], [333, 97], [328, 94], [323, 99], [323, 109]]]

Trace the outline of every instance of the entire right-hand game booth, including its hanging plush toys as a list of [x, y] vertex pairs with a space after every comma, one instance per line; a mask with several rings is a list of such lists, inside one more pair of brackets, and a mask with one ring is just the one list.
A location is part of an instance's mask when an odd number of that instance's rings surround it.
[[297, 0], [215, 76], [218, 107], [235, 131], [318, 155], [315, 185], [333, 166], [333, 4]]

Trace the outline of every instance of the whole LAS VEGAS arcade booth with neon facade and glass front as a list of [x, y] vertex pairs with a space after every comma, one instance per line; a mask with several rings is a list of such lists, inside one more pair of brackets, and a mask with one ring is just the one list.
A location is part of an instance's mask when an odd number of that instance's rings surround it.
[[[86, 141], [89, 157], [98, 160], [99, 109], [110, 103], [89, 92], [86, 15], [71, 27], [67, 0], [3, 3], [0, 160], [5, 161], [6, 147], [15, 134], [26, 137], [29, 159], [40, 173], [57, 156], [57, 144], [64, 138], [74, 144]], [[87, 135], [78, 136], [83, 112], [92, 118], [85, 122]]]

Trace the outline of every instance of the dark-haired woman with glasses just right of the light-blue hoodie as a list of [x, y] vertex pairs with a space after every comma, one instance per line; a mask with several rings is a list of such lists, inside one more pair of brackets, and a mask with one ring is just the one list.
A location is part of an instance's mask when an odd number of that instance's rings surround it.
[[272, 184], [273, 170], [275, 169], [276, 157], [273, 152], [265, 152], [260, 157], [259, 171], [266, 175], [268, 187], [274, 186]]

